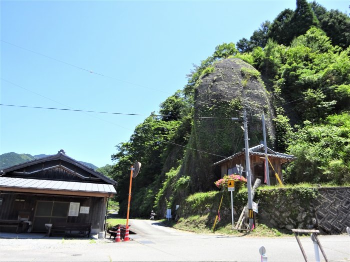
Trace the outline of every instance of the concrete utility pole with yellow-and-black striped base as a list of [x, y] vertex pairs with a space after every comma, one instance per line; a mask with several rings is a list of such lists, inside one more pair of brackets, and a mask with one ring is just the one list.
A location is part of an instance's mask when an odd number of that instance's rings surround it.
[[248, 218], [249, 218], [249, 230], [253, 227], [253, 200], [251, 197], [251, 171], [249, 160], [249, 145], [248, 145], [248, 125], [246, 120], [246, 111], [243, 111], [243, 126], [244, 126], [244, 145], [245, 145], [245, 174], [246, 185], [248, 189]]

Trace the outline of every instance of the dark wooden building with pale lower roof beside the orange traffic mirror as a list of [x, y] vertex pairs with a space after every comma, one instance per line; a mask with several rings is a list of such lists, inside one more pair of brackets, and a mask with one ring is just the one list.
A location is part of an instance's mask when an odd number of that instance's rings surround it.
[[46, 232], [45, 224], [90, 223], [103, 231], [116, 182], [65, 155], [1, 170], [0, 232]]

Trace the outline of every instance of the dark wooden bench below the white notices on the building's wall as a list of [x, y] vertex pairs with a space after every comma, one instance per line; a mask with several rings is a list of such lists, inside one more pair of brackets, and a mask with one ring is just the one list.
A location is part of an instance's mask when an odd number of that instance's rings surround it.
[[52, 233], [64, 234], [64, 236], [70, 237], [70, 234], [80, 235], [82, 237], [89, 238], [91, 232], [91, 223], [54, 223], [48, 229], [47, 236], [51, 236]]

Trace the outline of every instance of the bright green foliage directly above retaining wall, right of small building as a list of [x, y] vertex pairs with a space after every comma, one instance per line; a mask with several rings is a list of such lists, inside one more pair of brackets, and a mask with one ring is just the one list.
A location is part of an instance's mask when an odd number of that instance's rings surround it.
[[286, 169], [288, 183], [311, 182], [342, 185], [350, 182], [350, 114], [331, 115], [323, 123], [304, 122], [290, 141], [296, 157]]

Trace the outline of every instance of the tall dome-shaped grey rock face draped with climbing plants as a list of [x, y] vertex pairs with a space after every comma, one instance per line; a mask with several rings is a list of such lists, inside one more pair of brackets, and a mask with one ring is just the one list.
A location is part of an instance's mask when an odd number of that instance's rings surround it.
[[[194, 105], [194, 115], [203, 118], [193, 120], [189, 139], [189, 146], [198, 151], [186, 151], [179, 172], [191, 177], [192, 192], [212, 189], [218, 178], [210, 166], [244, 147], [243, 109], [249, 121], [249, 147], [262, 140], [262, 114], [268, 145], [274, 143], [272, 110], [260, 73], [238, 58], [218, 61], [205, 72], [197, 82]], [[223, 119], [230, 117], [239, 120]]]

